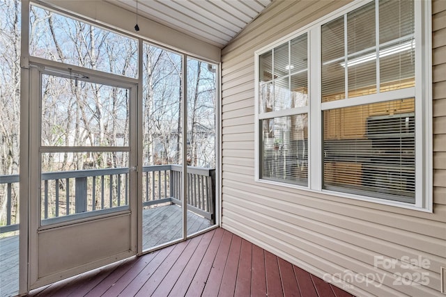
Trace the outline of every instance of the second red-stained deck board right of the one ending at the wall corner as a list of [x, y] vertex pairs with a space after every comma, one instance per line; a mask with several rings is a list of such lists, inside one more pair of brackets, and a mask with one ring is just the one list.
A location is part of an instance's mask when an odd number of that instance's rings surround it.
[[229, 248], [228, 260], [224, 267], [222, 284], [218, 296], [232, 297], [236, 290], [238, 260], [240, 259], [240, 248], [242, 246], [242, 239], [234, 235], [232, 237], [231, 248]]

